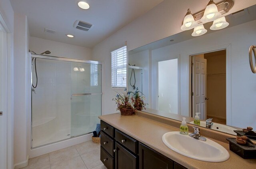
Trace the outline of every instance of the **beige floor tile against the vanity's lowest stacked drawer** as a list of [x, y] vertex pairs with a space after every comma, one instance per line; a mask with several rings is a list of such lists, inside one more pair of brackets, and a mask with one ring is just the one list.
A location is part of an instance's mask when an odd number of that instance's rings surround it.
[[81, 157], [88, 169], [92, 169], [93, 167], [102, 164], [102, 162], [100, 161], [100, 149], [95, 149], [93, 151], [85, 153], [81, 155]]

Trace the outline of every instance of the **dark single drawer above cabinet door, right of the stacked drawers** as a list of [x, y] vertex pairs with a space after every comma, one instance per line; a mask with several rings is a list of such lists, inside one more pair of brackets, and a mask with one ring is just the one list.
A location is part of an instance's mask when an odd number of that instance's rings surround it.
[[128, 148], [133, 153], [138, 153], [138, 141], [133, 139], [132, 137], [129, 137], [128, 135], [122, 133], [119, 130], [115, 130], [115, 139], [120, 144], [124, 145], [124, 147]]

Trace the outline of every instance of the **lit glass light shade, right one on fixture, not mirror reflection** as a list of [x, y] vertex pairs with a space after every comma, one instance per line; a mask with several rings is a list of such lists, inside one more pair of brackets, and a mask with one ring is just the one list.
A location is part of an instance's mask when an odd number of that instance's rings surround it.
[[220, 16], [221, 13], [218, 11], [216, 4], [211, 0], [204, 10], [204, 16], [201, 18], [201, 22], [211, 22], [220, 18]]

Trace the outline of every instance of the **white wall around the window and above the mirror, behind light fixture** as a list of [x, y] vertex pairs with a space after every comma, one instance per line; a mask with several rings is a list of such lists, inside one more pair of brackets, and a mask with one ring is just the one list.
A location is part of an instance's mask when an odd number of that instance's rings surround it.
[[[158, 4], [158, 6], [124, 26], [93, 48], [93, 60], [104, 61], [105, 64], [103, 74], [103, 113], [116, 112], [116, 106], [114, 101], [112, 101], [112, 98], [115, 96], [114, 90], [117, 89], [111, 88], [111, 49], [127, 41], [127, 51], [129, 51], [182, 32], [180, 26], [188, 8], [192, 10], [192, 13], [198, 12], [204, 9], [208, 2], [208, 0], [164, 0], [162, 3]], [[225, 15], [254, 4], [256, 4], [256, 2], [252, 0], [234, 0], [233, 8]], [[154, 26], [152, 26], [152, 24]], [[117, 91], [121, 92], [122, 90]]]

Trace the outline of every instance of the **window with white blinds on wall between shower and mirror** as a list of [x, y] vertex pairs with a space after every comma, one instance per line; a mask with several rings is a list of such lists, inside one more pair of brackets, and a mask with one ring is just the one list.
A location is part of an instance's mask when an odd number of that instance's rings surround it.
[[126, 87], [126, 46], [111, 52], [112, 87]]

